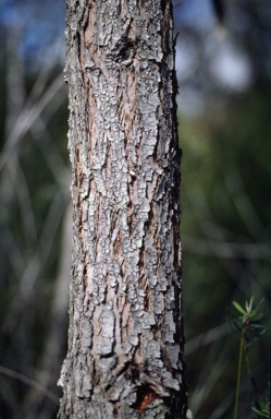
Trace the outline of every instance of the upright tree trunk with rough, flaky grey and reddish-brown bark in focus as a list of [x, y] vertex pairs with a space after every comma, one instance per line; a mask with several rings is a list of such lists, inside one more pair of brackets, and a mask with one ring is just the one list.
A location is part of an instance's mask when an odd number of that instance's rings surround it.
[[168, 0], [67, 0], [73, 267], [60, 419], [185, 418]]

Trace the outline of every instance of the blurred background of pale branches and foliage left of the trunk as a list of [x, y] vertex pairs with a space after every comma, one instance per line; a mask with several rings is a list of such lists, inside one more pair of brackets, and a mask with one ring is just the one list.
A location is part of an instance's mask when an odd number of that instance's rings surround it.
[[[48, 5], [12, 1], [0, 16], [1, 418], [54, 417], [61, 394], [71, 266], [67, 99], [63, 25], [61, 43], [52, 40]], [[62, 12], [64, 21], [64, 3]], [[51, 31], [40, 38], [41, 20]]]

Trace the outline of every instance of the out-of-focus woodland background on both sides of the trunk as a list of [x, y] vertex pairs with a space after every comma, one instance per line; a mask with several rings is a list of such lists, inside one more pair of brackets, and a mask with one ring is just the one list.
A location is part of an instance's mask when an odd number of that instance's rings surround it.
[[[271, 292], [271, 3], [175, 0], [187, 382], [197, 419], [232, 418], [231, 301]], [[2, 0], [0, 418], [51, 419], [71, 264], [64, 0]], [[222, 19], [223, 17], [223, 19]], [[270, 320], [267, 316], [268, 330]], [[270, 332], [251, 347], [268, 394]], [[254, 418], [243, 374], [239, 418]]]

